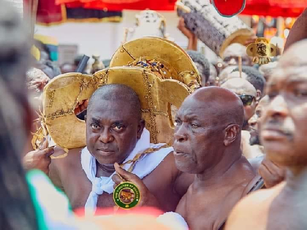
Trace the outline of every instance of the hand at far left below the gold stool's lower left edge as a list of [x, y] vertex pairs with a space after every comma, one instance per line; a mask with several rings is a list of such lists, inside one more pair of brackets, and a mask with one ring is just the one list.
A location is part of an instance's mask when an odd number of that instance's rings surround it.
[[39, 169], [49, 174], [50, 156], [54, 153], [53, 148], [48, 148], [48, 141], [45, 140], [39, 149], [28, 152], [23, 158], [23, 165], [26, 170]]

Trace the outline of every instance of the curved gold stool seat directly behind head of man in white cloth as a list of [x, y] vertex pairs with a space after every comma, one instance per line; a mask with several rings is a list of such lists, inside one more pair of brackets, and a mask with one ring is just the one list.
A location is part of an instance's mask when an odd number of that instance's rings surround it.
[[121, 66], [93, 76], [63, 74], [47, 84], [43, 93], [43, 119], [56, 145], [67, 149], [86, 145], [85, 122], [75, 116], [74, 109], [78, 102], [89, 99], [105, 84], [125, 84], [133, 88], [141, 102], [151, 143], [172, 143], [171, 105], [179, 108], [191, 90], [184, 83], [161, 79], [144, 68]]

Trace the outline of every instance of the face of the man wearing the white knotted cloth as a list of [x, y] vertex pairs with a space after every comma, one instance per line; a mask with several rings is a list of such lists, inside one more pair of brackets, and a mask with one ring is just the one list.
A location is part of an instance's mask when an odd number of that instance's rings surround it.
[[100, 164], [121, 163], [134, 149], [143, 128], [126, 101], [96, 100], [87, 111], [87, 149]]

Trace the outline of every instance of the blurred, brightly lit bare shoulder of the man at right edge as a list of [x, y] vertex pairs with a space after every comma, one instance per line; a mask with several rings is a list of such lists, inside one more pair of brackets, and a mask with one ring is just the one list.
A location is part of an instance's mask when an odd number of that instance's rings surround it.
[[261, 229], [259, 221], [266, 221], [270, 203], [284, 185], [285, 182], [282, 182], [271, 189], [253, 192], [240, 200], [231, 211], [225, 229]]

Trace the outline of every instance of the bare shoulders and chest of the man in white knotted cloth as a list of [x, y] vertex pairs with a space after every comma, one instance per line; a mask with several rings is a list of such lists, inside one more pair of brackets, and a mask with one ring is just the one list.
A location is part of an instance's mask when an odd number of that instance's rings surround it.
[[[50, 164], [49, 177], [54, 185], [67, 194], [73, 209], [83, 208], [92, 188], [81, 166], [81, 149], [72, 149], [67, 157], [53, 159]], [[63, 154], [56, 148], [55, 155]], [[186, 193], [194, 178], [193, 174], [180, 172], [174, 163], [173, 154], [168, 154], [160, 165], [143, 182], [154, 195], [164, 211], [174, 211], [181, 197]], [[99, 196], [97, 206], [113, 206], [112, 194]]]

